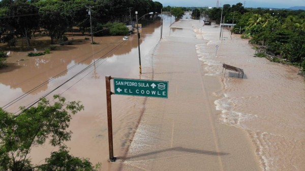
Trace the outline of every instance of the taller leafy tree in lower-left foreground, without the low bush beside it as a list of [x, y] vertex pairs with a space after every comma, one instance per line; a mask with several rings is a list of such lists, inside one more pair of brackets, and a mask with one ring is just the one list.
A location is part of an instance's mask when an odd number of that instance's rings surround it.
[[76, 114], [84, 107], [79, 101], [66, 102], [62, 96], [53, 97], [53, 105], [41, 98], [37, 107], [21, 107], [22, 114], [18, 116], [0, 108], [0, 170], [30, 169], [33, 165], [27, 155], [33, 146], [42, 145], [48, 139], [52, 146], [60, 147], [71, 139], [72, 132], [67, 130], [72, 119], [69, 112]]

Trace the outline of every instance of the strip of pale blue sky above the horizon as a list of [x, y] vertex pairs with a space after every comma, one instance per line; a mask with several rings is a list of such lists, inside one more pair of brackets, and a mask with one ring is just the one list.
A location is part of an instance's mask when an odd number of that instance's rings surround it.
[[[154, 0], [163, 7], [216, 7], [217, 0]], [[246, 2], [246, 3], [245, 3]], [[235, 5], [237, 3], [246, 4], [246, 8], [290, 8], [295, 6], [305, 6], [305, 0], [219, 0], [219, 6], [225, 4]]]

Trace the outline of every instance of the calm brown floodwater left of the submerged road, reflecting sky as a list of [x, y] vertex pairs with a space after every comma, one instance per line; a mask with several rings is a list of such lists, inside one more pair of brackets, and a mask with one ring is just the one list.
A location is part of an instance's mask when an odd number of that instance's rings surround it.
[[[148, 60], [150, 52], [160, 40], [160, 22], [140, 31], [144, 69], [151, 65], [151, 60]], [[101, 162], [102, 170], [106, 170], [109, 152], [105, 76], [139, 79], [138, 40], [136, 35], [128, 37], [127, 41], [123, 40], [123, 36], [97, 37], [94, 41], [100, 44], [91, 45], [91, 40], [74, 36], [73, 45], [57, 46], [50, 54], [38, 57], [28, 57], [28, 51], [13, 51], [7, 59], [9, 67], [0, 70], [0, 106], [8, 112], [18, 113], [19, 106], [31, 105], [89, 67], [47, 98], [51, 99], [53, 94], [62, 94], [68, 101], [81, 101], [85, 110], [73, 116], [70, 125], [72, 139], [65, 144], [74, 156], [89, 158], [94, 164]], [[35, 38], [34, 41], [39, 39]], [[23, 98], [19, 99], [20, 96]], [[115, 156], [124, 156], [143, 101], [144, 98], [112, 95]], [[48, 144], [34, 148], [30, 158], [34, 163], [41, 164], [53, 150]]]

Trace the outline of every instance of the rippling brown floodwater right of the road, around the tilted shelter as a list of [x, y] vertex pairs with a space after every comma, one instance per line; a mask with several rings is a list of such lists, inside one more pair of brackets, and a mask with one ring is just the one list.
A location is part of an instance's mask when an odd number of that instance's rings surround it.
[[[253, 57], [248, 40], [227, 30], [219, 40], [217, 25], [195, 31], [198, 39], [208, 41], [196, 46], [205, 75], [223, 83], [223, 89], [215, 92], [220, 122], [248, 131], [262, 170], [304, 170], [305, 82], [298, 69]], [[243, 79], [228, 70], [224, 75], [223, 63], [243, 69]]]

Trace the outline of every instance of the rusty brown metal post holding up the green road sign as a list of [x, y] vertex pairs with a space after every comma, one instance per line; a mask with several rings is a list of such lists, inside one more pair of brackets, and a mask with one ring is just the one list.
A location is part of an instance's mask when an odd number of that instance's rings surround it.
[[111, 76], [106, 76], [106, 98], [107, 98], [107, 120], [108, 120], [108, 144], [109, 144], [109, 160], [114, 162], [116, 157], [113, 156], [113, 136], [112, 136], [112, 111], [111, 111], [111, 92], [110, 80]]

